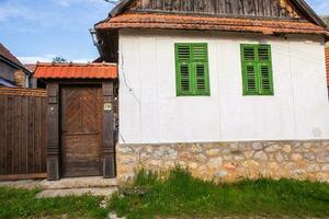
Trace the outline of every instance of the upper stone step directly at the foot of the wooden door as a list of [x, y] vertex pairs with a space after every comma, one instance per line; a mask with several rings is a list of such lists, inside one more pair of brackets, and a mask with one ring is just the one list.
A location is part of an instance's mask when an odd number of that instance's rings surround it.
[[117, 186], [116, 178], [104, 178], [102, 176], [68, 177], [59, 181], [44, 180], [39, 183], [44, 189], [66, 188], [102, 188]]

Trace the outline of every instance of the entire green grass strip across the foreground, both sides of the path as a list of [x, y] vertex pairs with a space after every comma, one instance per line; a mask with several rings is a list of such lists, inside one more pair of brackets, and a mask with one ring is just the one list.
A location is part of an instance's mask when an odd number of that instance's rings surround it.
[[38, 189], [0, 188], [0, 218], [106, 218], [109, 212], [138, 218], [329, 218], [329, 184], [308, 181], [243, 180], [216, 184], [179, 168], [166, 177], [140, 171], [115, 193], [107, 208], [104, 197], [36, 199]]

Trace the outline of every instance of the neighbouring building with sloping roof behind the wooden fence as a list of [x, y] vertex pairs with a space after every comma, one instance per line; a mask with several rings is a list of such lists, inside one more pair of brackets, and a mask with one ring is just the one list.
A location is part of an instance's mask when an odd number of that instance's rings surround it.
[[31, 72], [0, 43], [0, 87], [30, 87]]

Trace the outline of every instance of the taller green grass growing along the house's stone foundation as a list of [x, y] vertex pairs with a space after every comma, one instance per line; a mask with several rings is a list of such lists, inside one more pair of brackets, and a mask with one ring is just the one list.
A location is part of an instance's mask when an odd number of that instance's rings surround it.
[[[215, 184], [172, 170], [164, 180], [139, 172], [135, 181], [116, 193], [110, 211], [128, 219], [177, 217], [329, 217], [329, 184], [293, 180], [243, 180]], [[143, 194], [132, 191], [139, 188]]]

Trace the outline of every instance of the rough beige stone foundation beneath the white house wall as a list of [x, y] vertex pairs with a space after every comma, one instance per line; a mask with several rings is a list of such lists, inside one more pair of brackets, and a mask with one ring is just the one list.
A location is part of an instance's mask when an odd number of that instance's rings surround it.
[[175, 165], [215, 181], [265, 176], [329, 182], [329, 140], [117, 145], [116, 161], [121, 182], [141, 168], [166, 171]]

